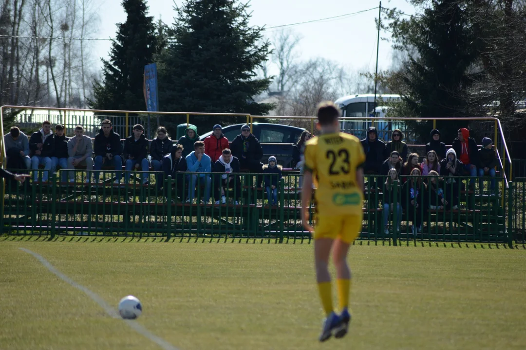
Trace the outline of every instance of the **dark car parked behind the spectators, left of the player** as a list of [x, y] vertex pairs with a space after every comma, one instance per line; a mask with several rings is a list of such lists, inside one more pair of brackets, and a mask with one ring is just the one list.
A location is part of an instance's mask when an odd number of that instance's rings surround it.
[[[228, 125], [223, 128], [223, 134], [232, 142], [237, 135], [241, 133], [241, 126], [245, 124]], [[292, 145], [295, 144], [301, 133], [305, 129], [296, 128], [296, 126], [270, 124], [270, 123], [254, 123], [252, 124], [252, 134], [261, 143], [263, 149], [263, 158], [261, 163], [267, 164], [268, 157], [276, 156], [278, 164], [284, 167], [289, 167], [292, 161]], [[200, 135], [200, 140], [204, 141], [212, 132]]]

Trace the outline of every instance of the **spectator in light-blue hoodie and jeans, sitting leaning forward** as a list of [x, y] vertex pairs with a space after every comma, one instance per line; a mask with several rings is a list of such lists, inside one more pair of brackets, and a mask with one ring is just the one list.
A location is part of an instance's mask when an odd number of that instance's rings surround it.
[[203, 196], [203, 203], [208, 204], [212, 183], [212, 179], [210, 178], [212, 165], [210, 157], [205, 154], [205, 143], [203, 141], [196, 141], [196, 143], [194, 143], [194, 151], [186, 156], [186, 164], [188, 165], [188, 172], [199, 173], [187, 175], [188, 199], [186, 203], [191, 203], [194, 199], [196, 186], [204, 185], [205, 194]]

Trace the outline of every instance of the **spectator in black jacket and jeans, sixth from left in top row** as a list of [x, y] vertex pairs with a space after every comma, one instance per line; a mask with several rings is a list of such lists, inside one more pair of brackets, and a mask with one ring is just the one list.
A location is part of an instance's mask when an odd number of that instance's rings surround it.
[[126, 137], [124, 141], [123, 158], [125, 160], [126, 173], [124, 174], [124, 182], [128, 183], [130, 180], [130, 171], [132, 169], [142, 169], [143, 185], [148, 183], [148, 140], [144, 136], [144, 126], [136, 124], [133, 126], [133, 134]]

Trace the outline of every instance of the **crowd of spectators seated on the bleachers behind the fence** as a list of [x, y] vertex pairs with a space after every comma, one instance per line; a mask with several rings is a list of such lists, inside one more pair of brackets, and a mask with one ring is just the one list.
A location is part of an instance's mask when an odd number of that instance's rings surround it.
[[[302, 169], [302, 150], [311, 137], [312, 134], [306, 130], [294, 145], [292, 168]], [[440, 131], [435, 129], [430, 133], [430, 142], [426, 144], [423, 157], [417, 153], [408, 154], [403, 138], [402, 131], [396, 129], [392, 132], [392, 140], [385, 143], [378, 138], [376, 128], [371, 127], [366, 138], [361, 140], [366, 153], [363, 164], [365, 174], [375, 175], [370, 178], [381, 178], [378, 183], [369, 181], [369, 188], [382, 189], [384, 222], [387, 222], [390, 213], [396, 213], [401, 218], [403, 209], [414, 217], [413, 230], [418, 232], [421, 230], [422, 212], [418, 209], [422, 205], [426, 210], [458, 209], [458, 194], [462, 186], [459, 176], [471, 177], [466, 184], [470, 189], [474, 189], [474, 180], [478, 176], [481, 191], [484, 187], [482, 177], [490, 177], [490, 194], [494, 195], [498, 161], [493, 142], [488, 137], [482, 139], [479, 148], [469, 131], [460, 129], [457, 139], [447, 150], [440, 140]], [[53, 132], [52, 125], [46, 121], [29, 139], [14, 126], [4, 140], [7, 168], [33, 170], [34, 182], [46, 183], [49, 174], [58, 168], [62, 183], [75, 182], [75, 169], [85, 168], [84, 181], [98, 183], [100, 171], [104, 168], [114, 170], [114, 181], [120, 184], [124, 165], [125, 183], [129, 182], [131, 171], [136, 169], [141, 171], [141, 182], [147, 184], [151, 167], [157, 172], [157, 189], [167, 194], [171, 189], [164, 188], [163, 184], [171, 176], [175, 180], [172, 184], [177, 189], [178, 197], [186, 203], [198, 202], [196, 189], [202, 188], [199, 192], [203, 194], [203, 203], [208, 203], [213, 197], [216, 204], [225, 204], [228, 197], [238, 204], [241, 196], [239, 174], [251, 172], [262, 174], [256, 185], [264, 188], [270, 205], [277, 205], [282, 166], [277, 164], [275, 156], [268, 158], [268, 164], [261, 163], [262, 147], [250, 132], [249, 125], [243, 125], [240, 134], [231, 142], [222, 133], [219, 124], [214, 125], [213, 133], [204, 142], [199, 141], [196, 126], [189, 125], [185, 135], [174, 143], [163, 126], [157, 129], [157, 137], [149, 142], [144, 135], [144, 127], [137, 124], [123, 143], [120, 135], [113, 131], [112, 122], [104, 120], [92, 147], [92, 139], [84, 135], [82, 125], [76, 126], [73, 137], [67, 137], [64, 125], [57, 124]], [[43, 171], [36, 171], [39, 167], [43, 167]], [[395, 181], [400, 186], [399, 199], [393, 196]], [[431, 194], [428, 198], [420, 193], [422, 188], [427, 188], [426, 194]], [[228, 195], [228, 191], [232, 195]]]

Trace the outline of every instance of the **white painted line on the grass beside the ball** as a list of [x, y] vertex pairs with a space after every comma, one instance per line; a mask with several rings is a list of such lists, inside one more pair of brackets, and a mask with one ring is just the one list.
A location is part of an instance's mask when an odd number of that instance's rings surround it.
[[[54, 274], [57, 275], [58, 278], [60, 278], [61, 280], [63, 280], [64, 282], [66, 283], [69, 283], [71, 284], [73, 287], [83, 291], [84, 293], [86, 293], [89, 298], [92, 298], [93, 301], [95, 301], [97, 304], [100, 305], [100, 307], [102, 307], [104, 309], [104, 311], [106, 311], [106, 313], [109, 315], [109, 316], [112, 316], [114, 317], [115, 319], [120, 319], [120, 316], [119, 314], [117, 313], [117, 311], [112, 307], [110, 306], [108, 303], [106, 303], [102, 298], [100, 298], [100, 296], [98, 296], [96, 293], [90, 291], [89, 289], [87, 289], [86, 287], [84, 287], [83, 285], [80, 285], [78, 284], [77, 282], [75, 282], [74, 280], [70, 279], [69, 277], [67, 277], [64, 273], [58, 271], [52, 264], [50, 264], [46, 259], [44, 259], [43, 256], [41, 256], [40, 254], [37, 254], [35, 252], [32, 252], [31, 250], [29, 249], [26, 249], [26, 248], [20, 248], [22, 249], [23, 251], [25, 251], [26, 253], [29, 253], [31, 254], [32, 256], [34, 256], [38, 261], [40, 261], [50, 272], [53, 272]], [[175, 346], [171, 345], [170, 343], [166, 342], [165, 340], [163, 340], [162, 338], [156, 336], [155, 334], [152, 334], [150, 331], [148, 331], [145, 327], [143, 327], [140, 323], [137, 323], [135, 321], [131, 321], [131, 320], [124, 320], [126, 321], [126, 323], [128, 324], [128, 326], [130, 326], [131, 328], [133, 328], [137, 333], [140, 333], [141, 335], [144, 335], [145, 337], [147, 337], [150, 341], [156, 343], [157, 345], [159, 345], [161, 348], [165, 349], [165, 350], [179, 350], [178, 348], [176, 348]]]

